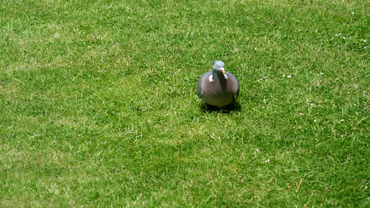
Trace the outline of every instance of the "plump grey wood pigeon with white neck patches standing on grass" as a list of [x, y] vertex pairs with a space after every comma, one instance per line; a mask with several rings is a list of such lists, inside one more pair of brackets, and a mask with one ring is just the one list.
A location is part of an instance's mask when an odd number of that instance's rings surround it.
[[222, 111], [226, 105], [238, 98], [238, 78], [226, 72], [224, 66], [222, 61], [216, 60], [212, 71], [206, 72], [199, 78], [196, 94], [202, 98], [202, 103], [207, 109], [209, 105], [213, 105]]

